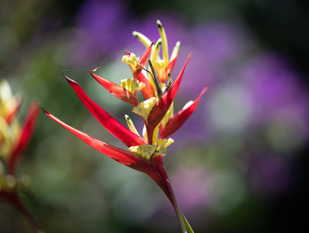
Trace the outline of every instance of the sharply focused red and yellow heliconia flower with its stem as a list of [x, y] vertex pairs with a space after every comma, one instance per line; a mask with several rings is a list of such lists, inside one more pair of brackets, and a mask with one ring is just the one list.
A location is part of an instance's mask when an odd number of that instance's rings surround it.
[[[60, 121], [52, 113], [46, 111], [42, 107], [41, 108], [44, 114], [94, 149], [125, 166], [149, 175], [164, 191], [174, 206], [182, 232], [193, 232], [176, 202], [175, 195], [163, 165], [162, 157], [166, 155], [166, 148], [174, 142], [173, 139], [167, 139], [167, 137], [179, 129], [194, 112], [201, 96], [208, 89], [208, 86], [202, 90], [196, 100], [189, 102], [185, 105], [183, 110], [174, 116], [172, 115], [173, 100], [180, 86], [184, 69], [188, 64], [192, 53], [188, 56], [188, 59], [176, 80], [172, 82], [170, 73], [178, 57], [180, 42], [176, 43], [171, 58], [169, 59], [164, 28], [159, 20], [157, 21], [157, 24], [161, 38], [155, 43], [155, 46], [153, 46], [154, 42], [151, 42], [146, 36], [138, 32], [133, 32], [133, 35], [135, 35], [147, 48], [138, 60], [136, 59], [135, 54], [125, 50], [125, 55], [122, 57], [122, 61], [129, 64], [132, 71], [132, 79], [123, 79], [121, 80], [121, 85], [119, 85], [94, 74], [93, 72], [97, 69], [91, 71], [91, 75], [106, 90], [120, 100], [133, 105], [132, 112], [140, 115], [145, 124], [142, 137], [134, 127], [133, 122], [128, 115], [125, 115], [125, 120], [129, 129], [116, 121], [103, 108], [91, 100], [77, 82], [64, 75], [89, 112], [91, 112], [105, 129], [128, 146], [129, 150], [115, 147], [94, 138], [87, 133], [79, 131], [78, 129], [74, 129]], [[160, 59], [159, 56], [161, 45], [163, 48], [163, 59]], [[145, 68], [147, 61], [150, 68], [149, 70], [146, 70]], [[153, 64], [155, 64], [155, 66]], [[167, 85], [164, 84], [166, 80], [168, 80]], [[137, 91], [139, 90], [146, 99], [142, 102], [138, 101]], [[160, 137], [158, 137], [159, 132]]]

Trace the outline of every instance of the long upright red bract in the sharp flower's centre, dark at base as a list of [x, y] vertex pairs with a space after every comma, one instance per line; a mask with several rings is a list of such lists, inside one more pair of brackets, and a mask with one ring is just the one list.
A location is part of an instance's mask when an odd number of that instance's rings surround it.
[[152, 140], [152, 136], [153, 136], [153, 132], [155, 130], [155, 127], [161, 122], [161, 120], [165, 116], [167, 110], [171, 106], [171, 103], [173, 102], [173, 100], [176, 96], [176, 93], [178, 91], [182, 76], [184, 74], [184, 69], [187, 66], [187, 63], [188, 63], [191, 55], [192, 55], [192, 53], [188, 56], [188, 59], [187, 59], [186, 63], [184, 64], [184, 67], [182, 68], [180, 74], [176, 78], [175, 82], [163, 94], [162, 98], [157, 102], [157, 104], [151, 110], [151, 112], [148, 116], [146, 129], [147, 129], [147, 138], [148, 138], [149, 144], [152, 144], [152, 142], [150, 140]]

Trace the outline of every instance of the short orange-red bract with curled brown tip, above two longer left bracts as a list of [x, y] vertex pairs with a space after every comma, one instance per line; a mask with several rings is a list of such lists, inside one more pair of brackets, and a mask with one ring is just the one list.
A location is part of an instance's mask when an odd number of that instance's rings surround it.
[[[96, 70], [96, 69], [95, 69]], [[93, 70], [93, 71], [95, 71]], [[112, 95], [116, 96], [118, 99], [125, 101], [129, 104], [132, 104], [136, 107], [138, 105], [138, 100], [133, 96], [131, 92], [129, 92], [127, 89], [123, 88], [122, 86], [113, 83], [107, 79], [104, 79], [98, 75], [95, 75], [91, 72], [92, 77], [95, 78], [101, 84], [106, 90], [108, 90]]]

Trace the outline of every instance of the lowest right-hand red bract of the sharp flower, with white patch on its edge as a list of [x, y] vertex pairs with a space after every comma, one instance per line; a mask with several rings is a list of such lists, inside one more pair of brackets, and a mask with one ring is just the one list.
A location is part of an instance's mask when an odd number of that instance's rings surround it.
[[191, 114], [195, 111], [198, 102], [200, 101], [203, 94], [207, 91], [209, 86], [206, 86], [199, 96], [196, 98], [196, 100], [193, 101], [193, 103], [183, 110], [180, 110], [177, 112], [165, 125], [165, 128], [160, 132], [160, 137], [167, 138], [171, 134], [175, 133], [183, 124], [184, 122], [191, 116]]

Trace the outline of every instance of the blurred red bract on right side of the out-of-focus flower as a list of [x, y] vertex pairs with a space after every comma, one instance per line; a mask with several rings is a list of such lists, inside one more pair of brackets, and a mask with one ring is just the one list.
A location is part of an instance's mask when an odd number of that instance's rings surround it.
[[15, 167], [17, 159], [20, 157], [23, 149], [30, 141], [30, 138], [32, 137], [32, 134], [36, 127], [36, 121], [38, 116], [38, 110], [39, 110], [39, 104], [37, 101], [32, 101], [30, 104], [30, 107], [28, 109], [27, 116], [23, 122], [23, 127], [21, 129], [21, 135], [20, 139], [17, 142], [17, 145], [10, 157], [9, 160], [9, 173], [14, 174], [15, 173]]

